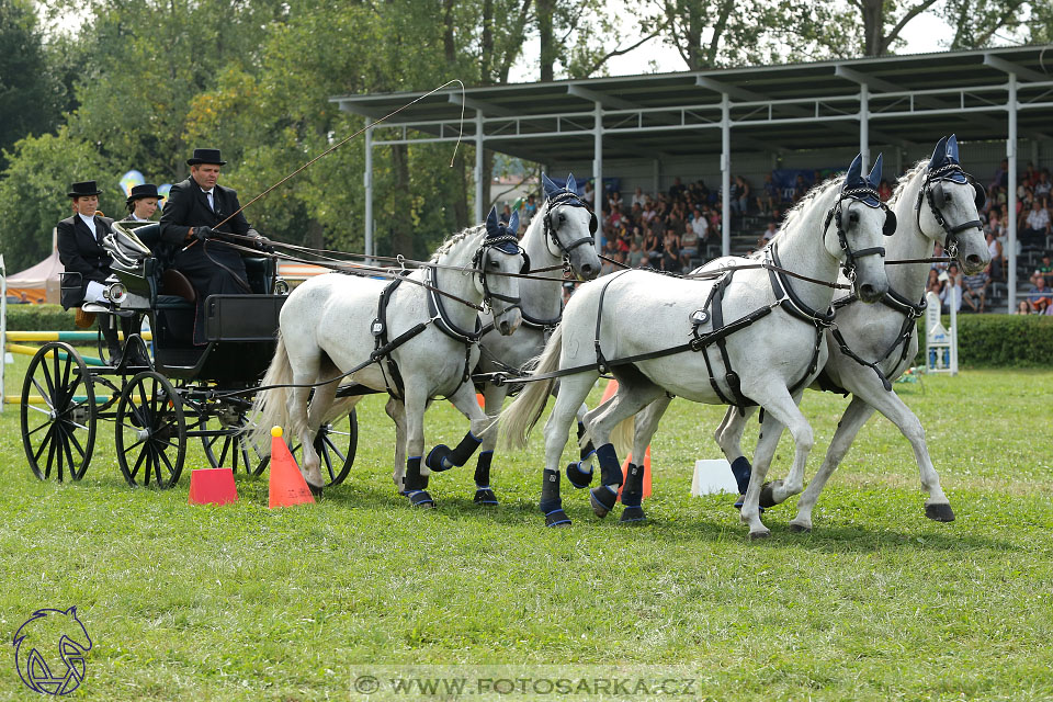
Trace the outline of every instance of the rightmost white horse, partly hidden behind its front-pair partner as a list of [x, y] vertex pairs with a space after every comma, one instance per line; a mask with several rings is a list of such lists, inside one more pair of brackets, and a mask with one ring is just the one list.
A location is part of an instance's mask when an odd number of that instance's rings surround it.
[[[899, 179], [890, 201], [899, 224], [896, 236], [890, 240], [886, 256], [891, 260], [926, 259], [932, 254], [933, 244], [940, 241], [944, 250], [958, 259], [962, 270], [967, 273], [983, 270], [990, 262], [978, 215], [984, 199], [983, 186], [959, 163], [956, 137], [952, 134], [940, 139], [930, 159], [919, 161]], [[837, 423], [823, 465], [797, 500], [797, 514], [790, 522], [792, 531], [812, 530], [812, 510], [819, 492], [874, 410], [898, 427], [914, 448], [921, 486], [928, 492], [926, 517], [941, 522], [953, 521], [954, 511], [929, 457], [921, 422], [893, 392], [890, 383], [910, 367], [918, 352], [916, 319], [925, 310], [928, 272], [928, 263], [890, 265], [888, 292], [881, 305], [864, 307], [854, 304], [854, 296], [834, 302], [837, 331], [827, 331], [830, 355], [813, 388], [851, 393], [852, 401]], [[639, 455], [636, 452], [650, 443], [669, 401], [663, 397], [637, 416], [633, 455]], [[740, 446], [748, 419], [749, 414], [743, 416], [728, 411], [716, 431], [716, 441], [740, 480], [743, 476], [748, 479], [750, 472], [749, 461]], [[766, 439], [763, 444], [771, 451], [782, 429], [774, 418], [765, 419], [761, 428]], [[771, 456], [760, 455], [760, 445], [757, 451], [755, 461], [767, 465]], [[778, 492], [772, 489], [779, 483], [762, 488], [762, 507], [782, 501], [775, 499]]]

